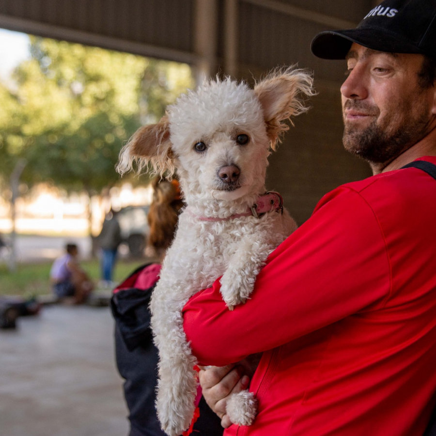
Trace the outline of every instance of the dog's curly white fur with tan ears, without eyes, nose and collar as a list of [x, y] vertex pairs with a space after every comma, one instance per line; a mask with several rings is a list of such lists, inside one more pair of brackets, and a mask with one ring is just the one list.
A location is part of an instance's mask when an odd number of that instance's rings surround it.
[[[267, 157], [288, 129], [283, 121], [306, 110], [299, 94], [313, 94], [312, 79], [292, 68], [273, 72], [254, 90], [229, 78], [211, 80], [180, 96], [159, 123], [140, 128], [120, 154], [121, 173], [134, 160], [139, 169], [151, 163], [161, 175], [177, 171], [187, 204], [151, 302], [160, 357], [156, 407], [170, 436], [189, 427], [197, 392], [197, 360], [183, 331], [185, 303], [220, 276], [229, 308], [245, 302], [268, 254], [296, 229], [286, 211], [232, 216], [265, 193]], [[241, 145], [242, 134], [249, 141]], [[195, 150], [199, 141], [204, 151]], [[237, 180], [220, 177], [228, 166], [239, 171]], [[234, 395], [227, 412], [234, 423], [249, 425], [256, 412], [253, 395]]]

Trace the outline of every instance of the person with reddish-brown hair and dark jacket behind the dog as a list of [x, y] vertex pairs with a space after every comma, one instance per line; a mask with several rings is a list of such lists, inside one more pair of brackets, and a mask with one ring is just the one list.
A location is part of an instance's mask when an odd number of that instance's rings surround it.
[[[147, 216], [150, 235], [145, 252], [158, 263], [137, 268], [114, 290], [111, 301], [117, 367], [125, 379], [129, 436], [165, 436], [156, 416], [158, 352], [153, 344], [148, 304], [159, 278], [160, 263], [174, 237], [183, 202], [177, 181], [155, 179], [152, 186], [153, 201]], [[220, 420], [206, 405], [201, 389], [197, 401], [196, 416], [184, 435], [221, 436]]]

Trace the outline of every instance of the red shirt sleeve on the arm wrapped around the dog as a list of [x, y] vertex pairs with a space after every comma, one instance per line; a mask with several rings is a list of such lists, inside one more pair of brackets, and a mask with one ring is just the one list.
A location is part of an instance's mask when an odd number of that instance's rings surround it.
[[390, 292], [383, 233], [372, 208], [340, 187], [269, 256], [251, 299], [229, 311], [212, 288], [191, 297], [184, 328], [201, 365], [223, 366], [263, 352], [358, 311]]

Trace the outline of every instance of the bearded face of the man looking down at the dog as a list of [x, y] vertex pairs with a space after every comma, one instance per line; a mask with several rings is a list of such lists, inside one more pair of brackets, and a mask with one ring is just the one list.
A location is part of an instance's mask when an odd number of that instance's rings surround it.
[[353, 44], [341, 87], [346, 150], [383, 169], [420, 141], [432, 120], [434, 88], [418, 83], [423, 56]]

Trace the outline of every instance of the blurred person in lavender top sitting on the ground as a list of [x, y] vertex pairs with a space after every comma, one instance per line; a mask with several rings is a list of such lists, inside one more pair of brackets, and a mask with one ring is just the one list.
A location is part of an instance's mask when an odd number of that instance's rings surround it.
[[78, 263], [78, 246], [67, 244], [65, 249], [66, 253], [54, 261], [50, 270], [53, 292], [60, 300], [71, 297], [75, 304], [81, 304], [94, 285]]

